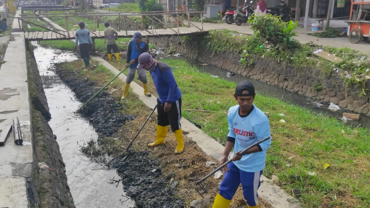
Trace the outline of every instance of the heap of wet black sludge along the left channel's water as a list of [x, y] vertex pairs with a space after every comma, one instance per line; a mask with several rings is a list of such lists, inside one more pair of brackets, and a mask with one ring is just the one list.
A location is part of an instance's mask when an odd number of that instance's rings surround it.
[[[74, 70], [57, 64], [56, 72], [81, 103], [100, 89], [95, 81], [80, 77]], [[81, 151], [94, 161], [116, 169], [121, 179], [111, 180], [111, 183], [122, 182], [126, 195], [135, 201], [138, 208], [184, 208], [184, 202], [174, 196], [178, 184], [174, 175], [162, 175], [160, 164], [150, 158], [150, 152], [129, 151], [111, 159], [107, 156], [110, 150], [99, 146], [104, 144], [99, 141], [114, 134], [125, 122], [135, 119], [134, 115], [122, 114], [122, 104], [115, 103], [110, 93], [102, 91], [78, 113], [86, 117], [99, 133], [98, 142], [91, 140]]]

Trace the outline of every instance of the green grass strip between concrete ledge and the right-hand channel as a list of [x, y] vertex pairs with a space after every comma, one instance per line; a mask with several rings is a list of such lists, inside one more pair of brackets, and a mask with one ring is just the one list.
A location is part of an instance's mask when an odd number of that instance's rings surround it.
[[[228, 124], [224, 112], [236, 105], [236, 83], [212, 78], [185, 61], [161, 61], [176, 68], [173, 73], [182, 91], [184, 118], [201, 125], [202, 131], [225, 144]], [[118, 69], [124, 63], [125, 60], [111, 62]], [[147, 75], [149, 90], [155, 95], [151, 76]], [[369, 130], [351, 128], [335, 118], [265, 95], [256, 95], [255, 105], [270, 114], [273, 140], [264, 170], [267, 177], [277, 175], [279, 185], [305, 207], [370, 206]], [[324, 169], [325, 163], [329, 168]]]

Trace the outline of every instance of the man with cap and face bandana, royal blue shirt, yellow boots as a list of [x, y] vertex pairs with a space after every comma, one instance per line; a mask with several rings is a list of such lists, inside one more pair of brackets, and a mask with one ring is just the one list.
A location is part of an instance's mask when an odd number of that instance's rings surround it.
[[151, 74], [155, 89], [157, 90], [157, 138], [155, 142], [148, 144], [149, 147], [157, 147], [165, 144], [167, 126], [171, 126], [175, 132], [177, 147], [175, 154], [184, 151], [184, 141], [181, 129], [181, 91], [172, 74], [171, 67], [156, 61], [149, 53], [143, 53], [138, 59], [137, 68], [143, 68]]

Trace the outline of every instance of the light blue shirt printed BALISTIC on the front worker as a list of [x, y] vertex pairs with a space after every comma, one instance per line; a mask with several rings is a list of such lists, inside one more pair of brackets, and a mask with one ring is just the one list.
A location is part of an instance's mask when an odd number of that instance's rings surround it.
[[[229, 109], [228, 137], [235, 138], [233, 155], [238, 151], [243, 151], [250, 145], [271, 137], [270, 123], [266, 115], [255, 105], [254, 109], [247, 116], [239, 115], [239, 105]], [[266, 152], [271, 145], [271, 139], [259, 144], [262, 151], [244, 155], [241, 160], [235, 161], [234, 164], [242, 171], [257, 172], [265, 168]]]

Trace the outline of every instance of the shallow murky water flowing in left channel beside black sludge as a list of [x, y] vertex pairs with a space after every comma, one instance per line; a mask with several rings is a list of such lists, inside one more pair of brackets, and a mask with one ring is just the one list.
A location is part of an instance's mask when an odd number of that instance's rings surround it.
[[[36, 44], [34, 44], [36, 45]], [[49, 125], [60, 146], [65, 163], [68, 185], [77, 208], [129, 208], [134, 202], [126, 197], [115, 170], [92, 162], [80, 151], [80, 146], [98, 135], [86, 120], [76, 114], [81, 105], [71, 90], [48, 68], [53, 63], [77, 60], [73, 53], [53, 54], [53, 49], [38, 46], [34, 49], [38, 70], [51, 113]], [[81, 61], [82, 64], [82, 61]]]

